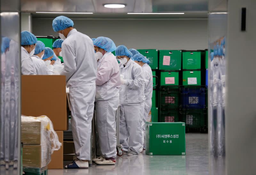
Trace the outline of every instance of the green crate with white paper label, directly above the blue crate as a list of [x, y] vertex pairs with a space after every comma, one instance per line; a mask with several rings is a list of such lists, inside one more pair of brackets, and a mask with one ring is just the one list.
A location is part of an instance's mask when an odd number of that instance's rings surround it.
[[201, 71], [183, 71], [183, 86], [201, 86]]

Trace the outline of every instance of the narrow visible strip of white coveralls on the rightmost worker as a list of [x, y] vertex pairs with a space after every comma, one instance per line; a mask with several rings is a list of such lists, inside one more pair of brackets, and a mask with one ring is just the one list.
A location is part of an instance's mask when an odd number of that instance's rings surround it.
[[144, 103], [144, 117], [143, 117], [143, 122], [142, 122], [142, 142], [143, 142], [143, 147], [145, 148], [145, 123], [148, 118], [148, 114], [151, 110], [152, 107], [152, 93], [153, 93], [153, 74], [150, 66], [145, 63], [142, 66], [142, 70], [144, 73], [144, 78], [145, 78], [145, 97], [146, 101]]

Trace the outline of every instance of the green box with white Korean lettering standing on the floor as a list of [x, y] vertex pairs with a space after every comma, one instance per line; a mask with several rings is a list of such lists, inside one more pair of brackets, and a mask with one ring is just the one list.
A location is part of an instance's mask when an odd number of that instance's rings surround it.
[[185, 123], [147, 122], [146, 154], [185, 155]]

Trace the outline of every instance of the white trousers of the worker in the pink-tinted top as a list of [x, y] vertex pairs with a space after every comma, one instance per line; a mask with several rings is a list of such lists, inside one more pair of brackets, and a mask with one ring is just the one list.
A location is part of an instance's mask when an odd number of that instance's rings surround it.
[[119, 104], [119, 96], [112, 100], [97, 101], [96, 127], [101, 156], [116, 157], [116, 110]]

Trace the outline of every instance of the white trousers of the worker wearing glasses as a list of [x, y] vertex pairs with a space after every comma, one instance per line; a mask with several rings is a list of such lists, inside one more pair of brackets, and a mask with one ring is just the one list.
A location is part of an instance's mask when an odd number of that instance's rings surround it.
[[[144, 105], [120, 106], [120, 144], [123, 150], [132, 150], [139, 153], [142, 147], [142, 119], [144, 114]], [[128, 140], [129, 138], [129, 140]]]

